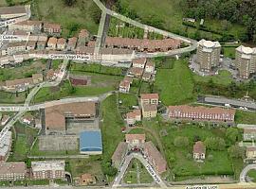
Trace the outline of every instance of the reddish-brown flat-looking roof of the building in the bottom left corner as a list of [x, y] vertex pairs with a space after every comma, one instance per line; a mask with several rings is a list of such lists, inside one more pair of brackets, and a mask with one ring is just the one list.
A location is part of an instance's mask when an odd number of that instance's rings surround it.
[[24, 162], [13, 162], [13, 163], [4, 163], [0, 162], [0, 175], [6, 174], [26, 174], [27, 167]]

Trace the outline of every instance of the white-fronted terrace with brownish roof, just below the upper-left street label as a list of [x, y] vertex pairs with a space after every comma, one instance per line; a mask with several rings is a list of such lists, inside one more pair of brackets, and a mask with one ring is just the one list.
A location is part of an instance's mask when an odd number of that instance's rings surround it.
[[2, 55], [14, 55], [18, 52], [26, 52], [27, 42], [8, 43], [7, 47], [2, 49]]

